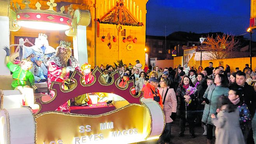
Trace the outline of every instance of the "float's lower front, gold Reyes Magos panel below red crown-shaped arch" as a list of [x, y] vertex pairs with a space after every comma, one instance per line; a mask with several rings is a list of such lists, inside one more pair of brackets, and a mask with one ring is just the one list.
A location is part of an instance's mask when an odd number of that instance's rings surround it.
[[[75, 71], [71, 76], [75, 85], [69, 90], [53, 82], [50, 90], [56, 95], [50, 101], [44, 101], [47, 96], [35, 97], [38, 110], [21, 107], [22, 99], [17, 95], [1, 92], [1, 144], [120, 144], [158, 139], [165, 121], [157, 102], [145, 99], [143, 93], [132, 95], [132, 80], [126, 87], [119, 87], [117, 72], [111, 74], [113, 79], [108, 84], [101, 82], [103, 73], [98, 67], [92, 75], [94, 81], [84, 85], [83, 75]], [[106, 101], [71, 106], [71, 113], [55, 111], [65, 101], [89, 93], [102, 93]]]

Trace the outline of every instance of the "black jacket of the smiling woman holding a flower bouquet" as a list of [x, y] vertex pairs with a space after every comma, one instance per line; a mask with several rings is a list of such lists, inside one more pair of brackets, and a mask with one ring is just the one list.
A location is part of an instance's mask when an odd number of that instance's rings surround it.
[[180, 118], [186, 119], [193, 119], [195, 118], [196, 113], [196, 101], [195, 101], [195, 94], [190, 95], [192, 101], [190, 104], [187, 104], [184, 98], [186, 95], [185, 88], [180, 85], [176, 90], [176, 95], [178, 97], [178, 104], [177, 104], [177, 114]]

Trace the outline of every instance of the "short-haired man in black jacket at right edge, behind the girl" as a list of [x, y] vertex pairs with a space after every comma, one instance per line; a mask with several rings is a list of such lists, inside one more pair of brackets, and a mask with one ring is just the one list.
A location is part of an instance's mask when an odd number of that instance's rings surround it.
[[[256, 109], [256, 92], [254, 91], [253, 86], [248, 85], [246, 83], [246, 74], [244, 72], [237, 73], [236, 83], [231, 85], [229, 88], [232, 90], [235, 90], [235, 89], [241, 90], [241, 93], [242, 93], [241, 98], [244, 100], [244, 103], [247, 105], [252, 117], [251, 119], [253, 120], [253, 116], [255, 114], [255, 109]], [[252, 123], [252, 127], [255, 128], [254, 123]], [[247, 142], [253, 143], [252, 132], [249, 133]]]

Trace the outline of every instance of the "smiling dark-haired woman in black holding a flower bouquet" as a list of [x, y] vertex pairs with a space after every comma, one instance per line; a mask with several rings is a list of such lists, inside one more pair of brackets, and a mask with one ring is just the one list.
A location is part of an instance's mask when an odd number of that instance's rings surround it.
[[194, 127], [195, 127], [195, 117], [196, 117], [196, 111], [197, 111], [196, 100], [195, 100], [196, 96], [195, 94], [186, 95], [186, 89], [189, 86], [194, 87], [192, 80], [189, 78], [189, 76], [185, 76], [181, 80], [181, 84], [176, 90], [176, 95], [178, 97], [177, 111], [178, 111], [178, 116], [180, 118], [179, 126], [181, 129], [179, 132], [179, 137], [182, 137], [184, 135], [185, 124], [187, 121], [189, 125], [190, 136], [192, 138], [195, 138]]

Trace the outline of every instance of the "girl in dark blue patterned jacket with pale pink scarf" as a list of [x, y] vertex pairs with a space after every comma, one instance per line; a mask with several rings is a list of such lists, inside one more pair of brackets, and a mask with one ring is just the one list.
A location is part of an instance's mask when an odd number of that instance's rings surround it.
[[239, 109], [240, 128], [242, 130], [242, 133], [244, 135], [244, 141], [246, 143], [246, 139], [251, 127], [249, 122], [251, 121], [250, 112], [247, 108], [247, 105], [244, 104], [239, 90], [230, 90], [228, 92], [228, 99]]

